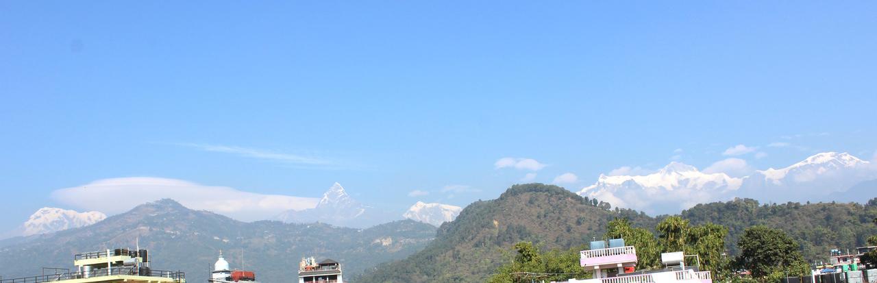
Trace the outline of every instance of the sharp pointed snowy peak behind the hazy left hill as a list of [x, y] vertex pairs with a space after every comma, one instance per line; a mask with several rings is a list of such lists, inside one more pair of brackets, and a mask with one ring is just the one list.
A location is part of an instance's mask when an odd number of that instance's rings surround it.
[[344, 187], [337, 182], [323, 194], [317, 207], [288, 210], [275, 219], [285, 223], [321, 222], [353, 228], [366, 228], [388, 220], [378, 209], [363, 205], [347, 195]]

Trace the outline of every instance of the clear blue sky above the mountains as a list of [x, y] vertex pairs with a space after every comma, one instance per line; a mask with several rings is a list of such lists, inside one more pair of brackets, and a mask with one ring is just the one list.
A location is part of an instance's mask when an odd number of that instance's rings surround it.
[[873, 159], [875, 9], [4, 1], [0, 228], [119, 177], [305, 197], [338, 181], [401, 213], [526, 173], [577, 190], [620, 166], [703, 168], [735, 145], [765, 152], [741, 156], [756, 168]]

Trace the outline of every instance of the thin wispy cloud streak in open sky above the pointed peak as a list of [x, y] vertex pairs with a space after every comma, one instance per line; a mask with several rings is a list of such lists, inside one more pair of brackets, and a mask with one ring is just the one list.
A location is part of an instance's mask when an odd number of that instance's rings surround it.
[[291, 164], [300, 164], [300, 165], [313, 165], [313, 166], [332, 166], [336, 165], [334, 162], [328, 159], [321, 159], [316, 157], [307, 157], [303, 155], [291, 154], [291, 153], [283, 153], [283, 152], [274, 152], [262, 149], [255, 149], [249, 147], [242, 146], [233, 146], [233, 145], [207, 145], [207, 144], [191, 144], [191, 143], [182, 143], [182, 144], [173, 144], [173, 145], [181, 145], [190, 148], [195, 148], [197, 150], [201, 150], [204, 152], [222, 152], [238, 155], [240, 157], [246, 157], [251, 159], [267, 159], [274, 160], [284, 163]]

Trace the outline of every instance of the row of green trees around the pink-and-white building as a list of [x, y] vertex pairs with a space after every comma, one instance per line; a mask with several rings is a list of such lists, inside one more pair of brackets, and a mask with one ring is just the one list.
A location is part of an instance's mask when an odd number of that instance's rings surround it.
[[[773, 282], [783, 276], [809, 274], [809, 265], [802, 257], [799, 244], [782, 230], [764, 225], [747, 228], [738, 240], [740, 254], [736, 258], [729, 258], [725, 251], [728, 229], [722, 225], [692, 225], [679, 216], [669, 216], [654, 230], [656, 233], [633, 227], [626, 218], [616, 218], [607, 224], [603, 238], [624, 238], [625, 244], [634, 246], [637, 270], [663, 268], [661, 253], [683, 251], [686, 255], [696, 255], [686, 257], [686, 265], [699, 265], [701, 270], [712, 272], [713, 278], [719, 282]], [[877, 240], [877, 237], [873, 238]], [[531, 242], [519, 242], [510, 251], [510, 260], [496, 269], [489, 282], [590, 278], [591, 273], [585, 272], [579, 263], [579, 251], [583, 248], [584, 245], [566, 251], [540, 251]], [[742, 270], [751, 275], [735, 272]]]

